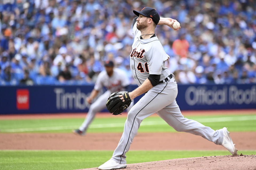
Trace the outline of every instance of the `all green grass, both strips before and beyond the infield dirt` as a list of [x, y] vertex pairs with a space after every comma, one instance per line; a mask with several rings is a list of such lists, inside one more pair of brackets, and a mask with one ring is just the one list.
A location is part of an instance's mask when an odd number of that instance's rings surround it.
[[[243, 115], [205, 115], [187, 116], [189, 119], [210, 126], [214, 130], [224, 126], [232, 132], [256, 131], [256, 114]], [[69, 119], [23, 119], [0, 120], [1, 133], [11, 132], [70, 132], [83, 122], [83, 118]], [[126, 118], [96, 118], [88, 133], [122, 132]], [[120, 127], [120, 128], [118, 128]], [[143, 120], [139, 132], [175, 132], [159, 117], [149, 117]], [[256, 154], [256, 151], [241, 151], [246, 155]], [[31, 151], [31, 150], [0, 150], [0, 169], [81, 169], [98, 167], [107, 161], [113, 151]], [[166, 160], [185, 157], [228, 155], [228, 151], [129, 151], [127, 163], [139, 163], [156, 160]]]

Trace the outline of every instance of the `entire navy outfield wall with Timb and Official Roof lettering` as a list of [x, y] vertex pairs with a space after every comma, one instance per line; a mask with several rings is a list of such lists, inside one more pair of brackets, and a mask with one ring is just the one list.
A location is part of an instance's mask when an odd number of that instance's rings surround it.
[[[135, 88], [131, 85], [130, 91]], [[0, 114], [87, 112], [92, 89], [93, 85], [0, 86]], [[256, 109], [256, 84], [178, 85], [176, 100], [181, 110]]]

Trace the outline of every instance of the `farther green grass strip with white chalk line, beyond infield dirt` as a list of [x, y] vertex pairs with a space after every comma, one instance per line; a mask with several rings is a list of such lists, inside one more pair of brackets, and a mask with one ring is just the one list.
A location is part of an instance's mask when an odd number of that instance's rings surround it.
[[[210, 126], [214, 130], [226, 126], [232, 132], [256, 131], [256, 114], [187, 116], [187, 118]], [[70, 132], [78, 128], [83, 120], [83, 118], [0, 120], [0, 130], [1, 132]], [[123, 132], [125, 120], [126, 118], [118, 116], [96, 118], [88, 132]], [[141, 123], [139, 132], [176, 131], [160, 117], [148, 117]]]

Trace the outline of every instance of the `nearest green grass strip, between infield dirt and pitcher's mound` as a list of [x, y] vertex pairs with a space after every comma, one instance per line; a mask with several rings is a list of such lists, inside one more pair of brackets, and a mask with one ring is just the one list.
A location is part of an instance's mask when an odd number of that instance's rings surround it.
[[[256, 151], [240, 151], [256, 154]], [[0, 151], [1, 170], [70, 170], [98, 167], [113, 151]], [[227, 155], [227, 151], [129, 151], [127, 163], [150, 162], [186, 157]]]

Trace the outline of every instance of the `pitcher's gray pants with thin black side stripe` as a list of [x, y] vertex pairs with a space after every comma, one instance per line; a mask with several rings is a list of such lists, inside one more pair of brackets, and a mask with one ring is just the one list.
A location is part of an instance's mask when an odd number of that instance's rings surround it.
[[222, 129], [215, 131], [197, 121], [184, 118], [175, 100], [177, 94], [178, 89], [174, 78], [151, 88], [129, 111], [123, 135], [111, 159], [126, 164], [125, 154], [129, 150], [142, 120], [154, 113], [157, 113], [179, 132], [189, 132], [202, 136], [215, 144], [222, 144]]

